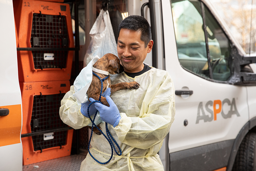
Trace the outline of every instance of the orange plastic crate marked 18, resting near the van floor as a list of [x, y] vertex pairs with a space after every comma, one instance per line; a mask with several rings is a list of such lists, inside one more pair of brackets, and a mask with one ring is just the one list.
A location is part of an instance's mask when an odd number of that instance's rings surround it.
[[54, 136], [50, 140], [44, 140], [44, 134], [22, 137], [23, 165], [70, 155], [73, 130], [56, 130], [68, 127], [60, 119], [59, 107], [69, 88], [69, 80], [20, 82], [22, 135], [50, 131]]

